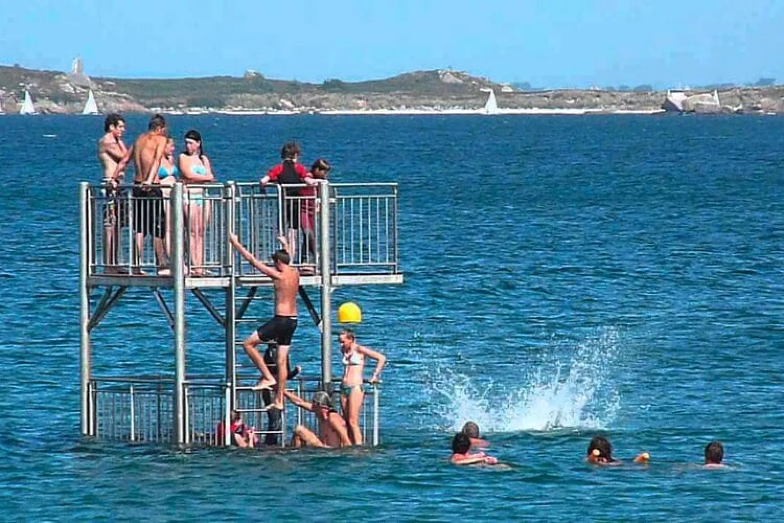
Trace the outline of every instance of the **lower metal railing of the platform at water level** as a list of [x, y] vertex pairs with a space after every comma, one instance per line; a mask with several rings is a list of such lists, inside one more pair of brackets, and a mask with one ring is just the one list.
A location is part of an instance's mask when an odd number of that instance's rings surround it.
[[[174, 380], [169, 376], [96, 376], [89, 381], [89, 435], [101, 441], [129, 441], [138, 443], [172, 443]], [[230, 419], [230, 394], [227, 383], [217, 376], [196, 376], [183, 385], [186, 409], [185, 443], [199, 446], [230, 444], [227, 427]], [[290, 382], [292, 390], [305, 401], [321, 390], [318, 376], [299, 376]], [[334, 380], [332, 401], [341, 412], [339, 380]], [[361, 409], [360, 427], [365, 445], [379, 445], [380, 390], [365, 383], [365, 400]], [[263, 391], [238, 390], [235, 409], [247, 427], [255, 427], [259, 445], [287, 446], [296, 425], [304, 425], [318, 434], [318, 421], [312, 412], [286, 402], [281, 412], [280, 426], [274, 423], [266, 407], [270, 397]], [[229, 439], [227, 439], [227, 436]]]

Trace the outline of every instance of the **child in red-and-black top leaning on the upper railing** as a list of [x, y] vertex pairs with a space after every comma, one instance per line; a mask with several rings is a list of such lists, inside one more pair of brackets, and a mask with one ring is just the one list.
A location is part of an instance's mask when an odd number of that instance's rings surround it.
[[[278, 182], [280, 185], [306, 184], [307, 186], [316, 185], [318, 180], [310, 176], [307, 169], [300, 164], [299, 154], [301, 154], [299, 143], [285, 143], [281, 149], [281, 159], [283, 162], [275, 165], [263, 176], [259, 183], [262, 188], [267, 187], [267, 183]], [[281, 189], [283, 191], [283, 210], [285, 237], [289, 242], [289, 256], [292, 261], [296, 260], [296, 243], [299, 231], [299, 187], [289, 187]]]

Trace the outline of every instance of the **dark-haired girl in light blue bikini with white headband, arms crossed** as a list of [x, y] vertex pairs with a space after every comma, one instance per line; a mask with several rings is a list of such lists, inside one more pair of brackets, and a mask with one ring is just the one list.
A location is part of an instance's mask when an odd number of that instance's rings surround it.
[[212, 165], [201, 147], [201, 134], [191, 129], [185, 133], [185, 152], [180, 153], [180, 176], [187, 186], [188, 239], [190, 246], [190, 274], [204, 276], [205, 232], [212, 216], [204, 189], [198, 186], [213, 183]]

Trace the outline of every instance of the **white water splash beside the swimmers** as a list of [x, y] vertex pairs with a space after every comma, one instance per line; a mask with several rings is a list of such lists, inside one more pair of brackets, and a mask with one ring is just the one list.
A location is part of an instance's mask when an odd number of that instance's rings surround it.
[[470, 376], [441, 369], [430, 385], [431, 405], [448, 430], [468, 420], [485, 432], [607, 428], [620, 406], [612, 381], [618, 332], [604, 329], [568, 350], [568, 358], [551, 355], [562, 352], [548, 350], [543, 365], [523, 373], [511, 390], [492, 380], [482, 388]]

